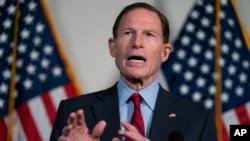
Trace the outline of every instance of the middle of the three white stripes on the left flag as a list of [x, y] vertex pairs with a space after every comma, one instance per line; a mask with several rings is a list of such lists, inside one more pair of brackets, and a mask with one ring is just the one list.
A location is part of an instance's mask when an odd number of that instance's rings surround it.
[[35, 121], [35, 126], [38, 129], [39, 135], [42, 138], [41, 140], [49, 140], [48, 137], [51, 132], [51, 124], [47, 118], [47, 112], [41, 97], [39, 96], [30, 100], [28, 102], [28, 107]]

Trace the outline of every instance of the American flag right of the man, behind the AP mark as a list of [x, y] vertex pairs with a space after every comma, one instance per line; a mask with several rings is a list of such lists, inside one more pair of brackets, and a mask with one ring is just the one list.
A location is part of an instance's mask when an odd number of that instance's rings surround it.
[[169, 89], [214, 110], [215, 62], [221, 67], [223, 140], [230, 124], [250, 124], [250, 40], [231, 0], [220, 0], [220, 59], [216, 59], [215, 0], [197, 0], [162, 65]]

